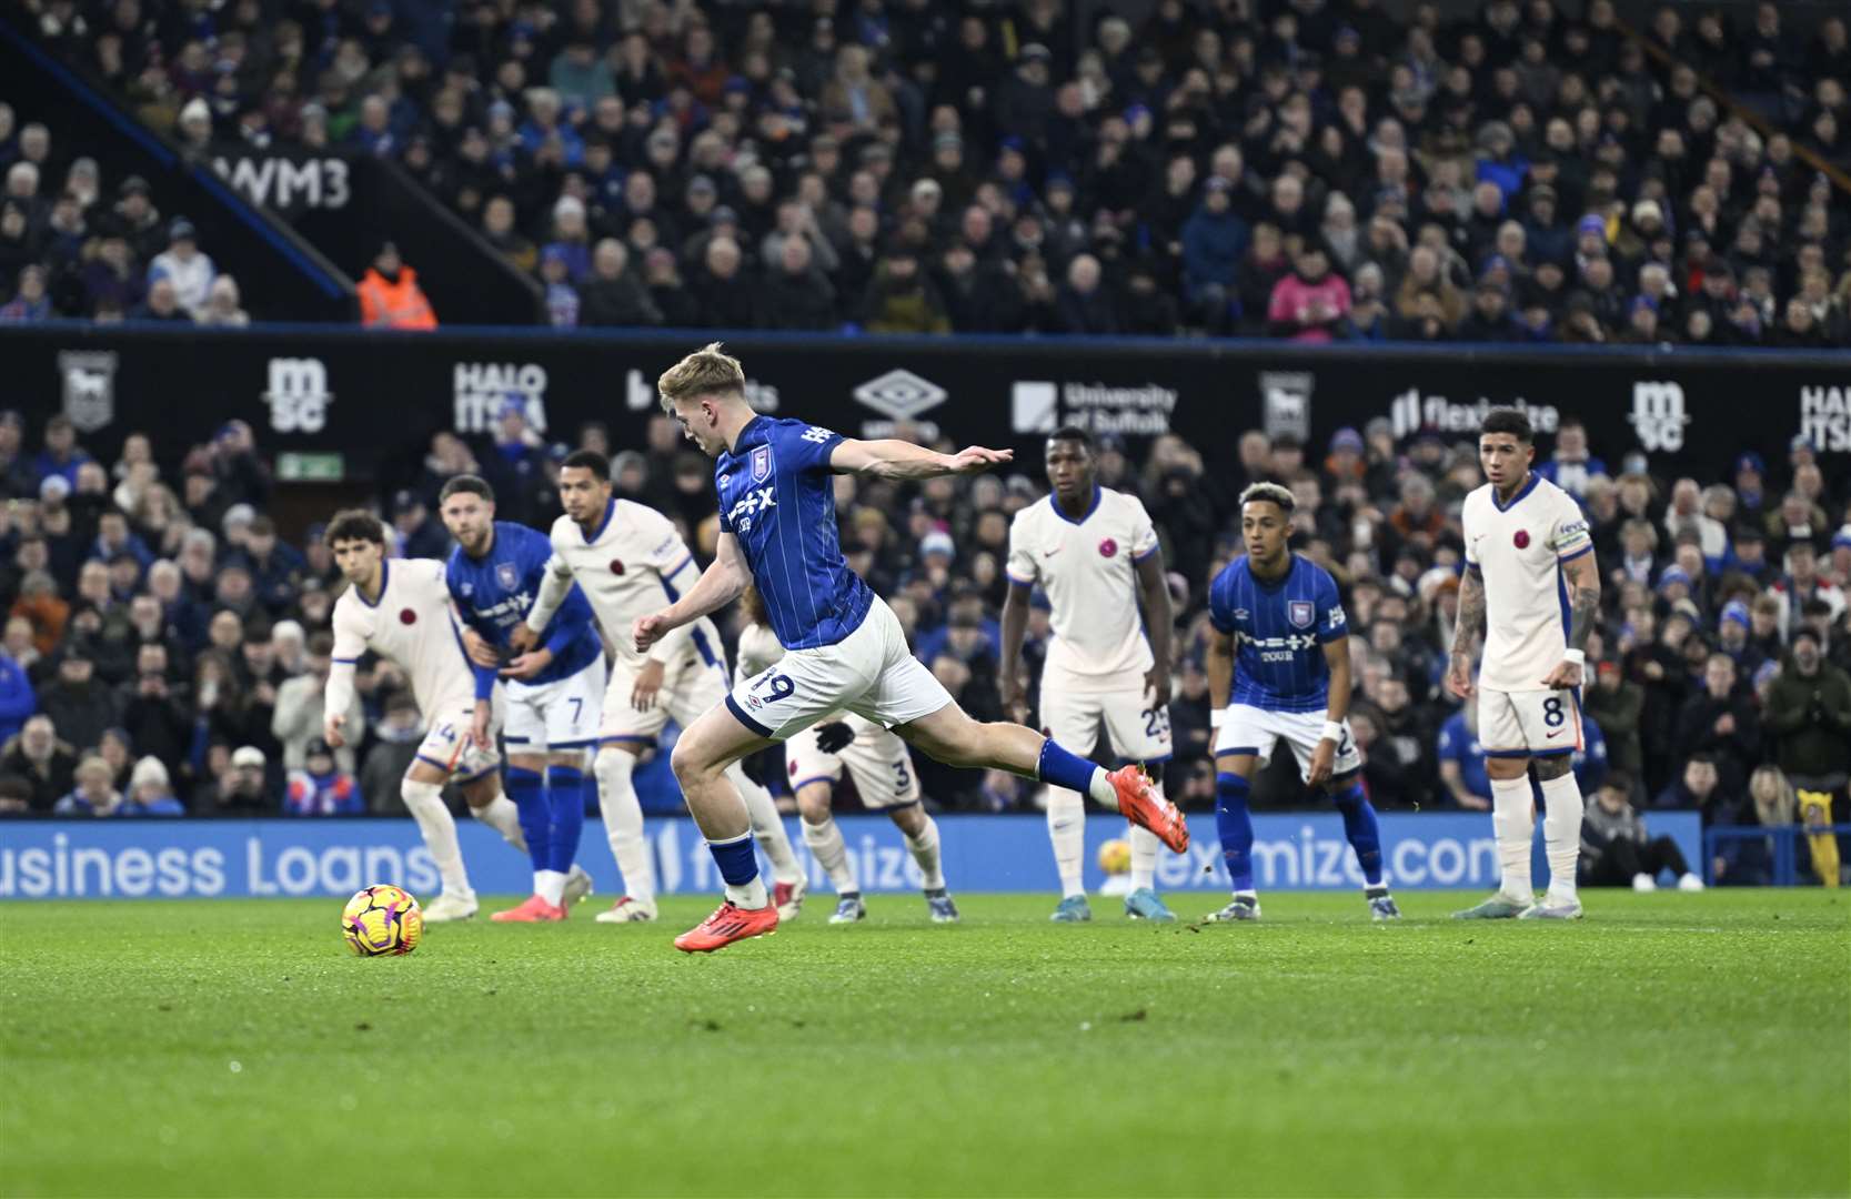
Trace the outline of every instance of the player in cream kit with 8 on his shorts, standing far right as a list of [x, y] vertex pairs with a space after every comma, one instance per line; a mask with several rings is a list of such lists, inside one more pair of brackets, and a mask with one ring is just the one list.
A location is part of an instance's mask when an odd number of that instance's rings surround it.
[[[1581, 786], [1571, 755], [1581, 748], [1581, 677], [1588, 633], [1601, 603], [1601, 574], [1581, 505], [1533, 470], [1529, 416], [1494, 409], [1479, 431], [1486, 483], [1462, 513], [1466, 574], [1446, 686], [1479, 705], [1479, 740], [1492, 779], [1497, 894], [1460, 920], [1579, 920], [1575, 860], [1581, 855]], [[1485, 661], [1472, 681], [1472, 642]], [[1536, 809], [1527, 772], [1542, 785], [1542, 840], [1549, 890], [1538, 903], [1531, 877]]]

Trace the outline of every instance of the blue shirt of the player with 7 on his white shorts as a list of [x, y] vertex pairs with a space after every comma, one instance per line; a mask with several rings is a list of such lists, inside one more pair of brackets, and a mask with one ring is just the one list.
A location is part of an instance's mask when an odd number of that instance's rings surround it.
[[[552, 555], [553, 544], [544, 533], [507, 520], [494, 522], [494, 538], [479, 559], [465, 553], [463, 546], [453, 548], [444, 562], [444, 581], [450, 598], [463, 612], [463, 622], [496, 649], [507, 649], [507, 635], [528, 618], [528, 611], [540, 596], [540, 581], [546, 577], [546, 561]], [[535, 686], [570, 679], [603, 657], [590, 603], [578, 583], [546, 622], [540, 644], [553, 651], [553, 661], [526, 679]]]

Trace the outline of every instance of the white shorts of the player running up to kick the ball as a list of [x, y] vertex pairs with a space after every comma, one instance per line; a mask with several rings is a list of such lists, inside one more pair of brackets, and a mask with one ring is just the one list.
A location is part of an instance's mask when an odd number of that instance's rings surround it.
[[913, 657], [900, 618], [877, 596], [853, 633], [792, 649], [726, 698], [742, 725], [770, 740], [789, 740], [842, 709], [890, 729], [950, 703], [951, 692]]

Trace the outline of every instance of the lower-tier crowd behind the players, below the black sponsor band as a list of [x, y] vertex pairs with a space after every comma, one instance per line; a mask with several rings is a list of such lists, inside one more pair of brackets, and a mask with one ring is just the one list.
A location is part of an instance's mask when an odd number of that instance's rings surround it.
[[[578, 446], [611, 453], [603, 426]], [[509, 403], [470, 444], [439, 433], [409, 487], [379, 505], [394, 550], [441, 557], [437, 488], [489, 477], [500, 516], [544, 527], [561, 457]], [[1794, 823], [1808, 794], [1842, 796], [1851, 772], [1851, 509], [1808, 444], [1786, 461], [1744, 453], [1721, 481], [1657, 477], [1644, 455], [1612, 464], [1579, 424], [1538, 448], [1538, 468], [1586, 507], [1605, 572], [1588, 646], [1577, 764], [1614, 809], [1590, 827], [1644, 836], [1638, 812], [1684, 809], [1708, 823]], [[1238, 553], [1235, 505], [1249, 481], [1298, 498], [1296, 546], [1340, 581], [1353, 627], [1351, 722], [1364, 779], [1386, 810], [1488, 809], [1470, 711], [1440, 686], [1460, 564], [1459, 505], [1479, 483], [1470, 440], [1398, 444], [1385, 420], [1327, 446], [1249, 431], [1229, 470], [1162, 437], [1135, 455], [1107, 439], [1101, 483], [1144, 498], [1177, 612], [1172, 796], [1212, 803], [1205, 594]], [[616, 490], [681, 524], [711, 555], [711, 464], [666, 416], [613, 457]], [[54, 416], [35, 437], [0, 413], [0, 812], [341, 814], [402, 810], [396, 781], [422, 735], [405, 681], [363, 664], [348, 727], [357, 748], [318, 742], [329, 609], [342, 587], [320, 529], [291, 544], [263, 511], [270, 468], [242, 422], [176, 461], [130, 435], [94, 461]], [[887, 596], [922, 661], [979, 718], [1000, 716], [998, 611], [1009, 518], [1044, 487], [1038, 472], [924, 485], [837, 481], [850, 564]], [[1037, 601], [1031, 672], [1048, 638]], [[920, 760], [935, 805], [1011, 810], [1033, 788], [1001, 773]], [[781, 777], [772, 766], [770, 777]], [[1259, 801], [1299, 805], [1285, 759]], [[1646, 842], [1642, 840], [1644, 847]], [[1725, 881], [1766, 879], [1768, 847], [1738, 842]]]

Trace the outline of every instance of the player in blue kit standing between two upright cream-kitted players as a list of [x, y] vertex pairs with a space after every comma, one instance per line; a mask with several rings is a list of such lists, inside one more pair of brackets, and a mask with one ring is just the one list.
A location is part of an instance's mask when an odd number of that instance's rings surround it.
[[1398, 920], [1383, 883], [1375, 807], [1362, 792], [1362, 755], [1349, 733], [1349, 624], [1336, 581], [1292, 553], [1292, 492], [1255, 483], [1240, 494], [1246, 553], [1209, 587], [1209, 696], [1214, 712], [1214, 818], [1235, 897], [1209, 920], [1259, 920], [1253, 888], [1253, 772], [1283, 738], [1311, 786], [1344, 816], [1373, 920]]

